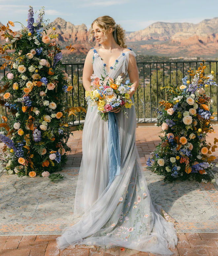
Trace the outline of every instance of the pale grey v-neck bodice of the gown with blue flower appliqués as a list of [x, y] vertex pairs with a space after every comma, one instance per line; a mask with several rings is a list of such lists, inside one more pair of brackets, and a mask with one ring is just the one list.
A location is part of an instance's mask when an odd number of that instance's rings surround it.
[[121, 76], [123, 79], [125, 79], [128, 69], [129, 54], [136, 56], [136, 54], [131, 50], [125, 53], [122, 51], [121, 55], [114, 61], [113, 66], [107, 70], [106, 63], [104, 63], [104, 61], [101, 59], [98, 51], [93, 49], [93, 72], [95, 76], [100, 78], [101, 75], [103, 77], [108, 75], [113, 79]]

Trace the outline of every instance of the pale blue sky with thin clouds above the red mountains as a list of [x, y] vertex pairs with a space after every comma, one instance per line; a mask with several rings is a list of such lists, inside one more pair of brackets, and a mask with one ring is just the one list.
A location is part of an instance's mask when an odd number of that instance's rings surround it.
[[[150, 24], [163, 22], [198, 23], [203, 19], [218, 17], [218, 0], [0, 0], [0, 22], [19, 21], [27, 25], [26, 18], [32, 5], [34, 13], [45, 7], [45, 19], [60, 17], [74, 25], [86, 24], [104, 15], [115, 19], [126, 31], [144, 29]], [[37, 13], [34, 14], [35, 20]], [[19, 23], [13, 30], [21, 28]]]

